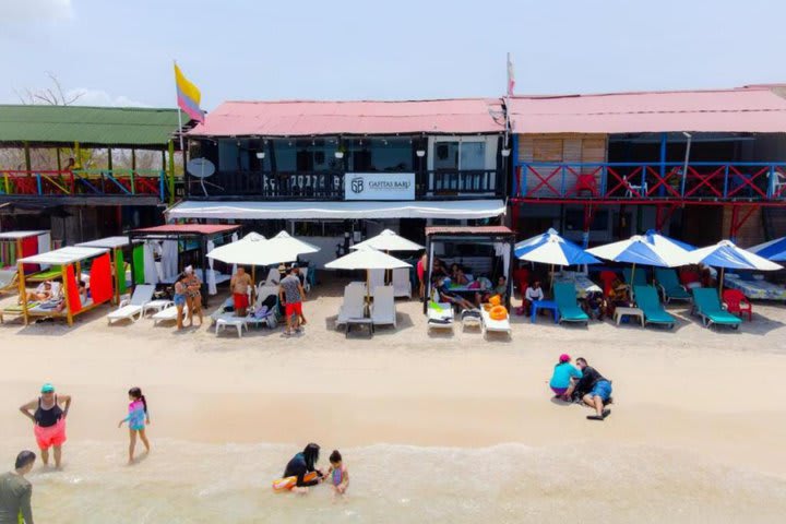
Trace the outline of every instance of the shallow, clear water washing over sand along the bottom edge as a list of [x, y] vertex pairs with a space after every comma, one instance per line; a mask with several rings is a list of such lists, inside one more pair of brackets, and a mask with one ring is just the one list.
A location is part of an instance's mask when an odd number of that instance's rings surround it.
[[[153, 444], [126, 466], [122, 444], [69, 442], [62, 472], [29, 476], [36, 522], [775, 523], [786, 514], [782, 478], [643, 446], [345, 449], [352, 481], [334, 501], [326, 486], [271, 491], [298, 446]], [[2, 456], [12, 449], [3, 442]]]

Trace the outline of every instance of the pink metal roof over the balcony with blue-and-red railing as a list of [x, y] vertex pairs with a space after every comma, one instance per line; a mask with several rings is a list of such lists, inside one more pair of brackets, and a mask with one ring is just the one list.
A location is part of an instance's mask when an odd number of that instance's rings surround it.
[[508, 110], [514, 133], [786, 132], [786, 99], [771, 87], [516, 96]]

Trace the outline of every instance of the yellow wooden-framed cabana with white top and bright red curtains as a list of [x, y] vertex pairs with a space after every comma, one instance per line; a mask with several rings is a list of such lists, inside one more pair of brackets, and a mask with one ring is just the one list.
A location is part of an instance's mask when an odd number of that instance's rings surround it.
[[[85, 303], [82, 303], [76, 276], [79, 275], [81, 279], [82, 262], [91, 259], [93, 263], [87, 278], [90, 281], [91, 296]], [[25, 275], [22, 271], [23, 264], [44, 264], [59, 267], [60, 279], [62, 281], [62, 303], [64, 305], [62, 308], [58, 308], [55, 303], [48, 307], [45, 303], [28, 303], [26, 299], [22, 300], [21, 309], [25, 324], [29, 322], [31, 317], [47, 317], [64, 318], [69, 325], [73, 325], [75, 315], [111, 300], [112, 285], [108, 249], [68, 247], [25, 257], [19, 259], [16, 263], [20, 272], [20, 296], [23, 298], [26, 298], [27, 293]]]

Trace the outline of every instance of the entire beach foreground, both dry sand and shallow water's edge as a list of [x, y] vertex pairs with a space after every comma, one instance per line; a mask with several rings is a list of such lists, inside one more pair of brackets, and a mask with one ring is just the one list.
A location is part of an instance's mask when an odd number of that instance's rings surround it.
[[[212, 305], [219, 302], [213, 298]], [[786, 309], [741, 333], [684, 307], [674, 332], [513, 318], [512, 340], [426, 333], [421, 305], [373, 338], [335, 330], [341, 286], [305, 302], [305, 333], [206, 325], [0, 326], [0, 461], [34, 448], [16, 408], [51, 381], [73, 395], [62, 472], [36, 467], [40, 522], [781, 522], [786, 511]], [[206, 324], [207, 322], [205, 322]], [[614, 381], [603, 422], [551, 401], [561, 353]], [[126, 392], [151, 406], [150, 456], [124, 465]], [[352, 485], [275, 496], [306, 443], [343, 452]]]

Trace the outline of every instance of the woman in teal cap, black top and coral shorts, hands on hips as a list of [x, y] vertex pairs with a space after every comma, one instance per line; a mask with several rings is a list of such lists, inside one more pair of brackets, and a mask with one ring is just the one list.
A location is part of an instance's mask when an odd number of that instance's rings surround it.
[[57, 395], [55, 386], [49, 382], [41, 386], [41, 394], [37, 400], [20, 407], [20, 412], [33, 421], [33, 432], [38, 449], [41, 450], [41, 460], [45, 466], [49, 464], [49, 448], [53, 448], [55, 467], [60, 468], [61, 446], [66, 442], [66, 416], [69, 407], [71, 407], [71, 395]]

